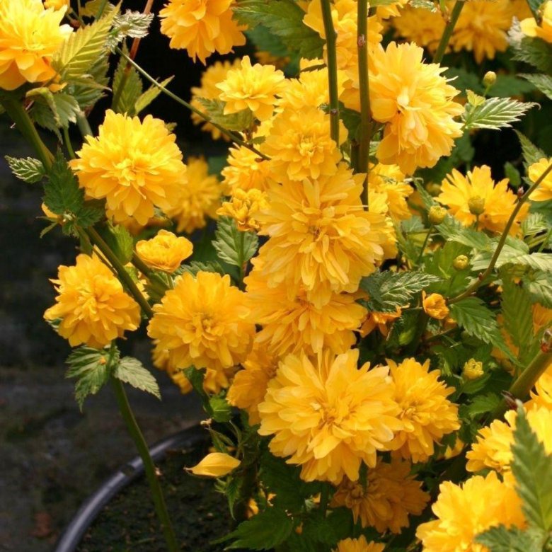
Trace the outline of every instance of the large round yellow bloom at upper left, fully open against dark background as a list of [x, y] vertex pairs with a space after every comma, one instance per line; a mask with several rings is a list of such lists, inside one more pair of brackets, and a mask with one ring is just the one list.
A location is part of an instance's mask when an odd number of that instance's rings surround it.
[[86, 137], [76, 154], [69, 165], [81, 188], [89, 197], [105, 198], [115, 222], [132, 217], [145, 225], [155, 207], [173, 205], [185, 178], [176, 136], [151, 115], [140, 122], [108, 110], [98, 137]]

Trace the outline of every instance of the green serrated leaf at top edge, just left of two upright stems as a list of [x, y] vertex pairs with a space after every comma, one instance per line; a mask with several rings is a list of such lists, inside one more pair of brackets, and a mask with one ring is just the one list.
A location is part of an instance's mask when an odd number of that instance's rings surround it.
[[234, 18], [250, 29], [264, 25], [272, 34], [282, 38], [289, 48], [301, 57], [322, 57], [324, 41], [315, 30], [303, 23], [305, 12], [293, 0], [240, 0], [233, 8]]

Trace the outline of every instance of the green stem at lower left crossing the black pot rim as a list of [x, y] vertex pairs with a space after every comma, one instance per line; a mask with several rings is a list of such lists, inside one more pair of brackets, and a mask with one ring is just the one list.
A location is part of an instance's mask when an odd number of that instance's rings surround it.
[[134, 418], [134, 413], [132, 413], [132, 408], [128, 402], [127, 393], [125, 393], [125, 388], [122, 386], [122, 382], [112, 376], [111, 384], [113, 385], [113, 391], [115, 391], [115, 397], [117, 398], [120, 413], [123, 420], [125, 420], [125, 424], [127, 425], [127, 430], [130, 433], [130, 437], [132, 437], [136, 448], [138, 449], [142, 462], [144, 463], [144, 471], [146, 472], [149, 489], [151, 490], [151, 498], [154, 500], [155, 511], [159, 519], [159, 523], [161, 524], [161, 530], [165, 536], [167, 549], [169, 552], [178, 552], [180, 548], [176, 541], [176, 536], [171, 524], [171, 518], [168, 516], [165, 498], [163, 497], [163, 490], [161, 490], [161, 485], [159, 485], [159, 479], [156, 476], [155, 464], [149, 454], [149, 449], [144, 439], [144, 435], [142, 435], [136, 418]]

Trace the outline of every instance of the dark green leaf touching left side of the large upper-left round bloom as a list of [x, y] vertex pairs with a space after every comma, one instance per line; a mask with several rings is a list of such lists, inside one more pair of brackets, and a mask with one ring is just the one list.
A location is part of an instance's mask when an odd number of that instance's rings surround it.
[[84, 191], [58, 151], [44, 186], [44, 202], [54, 214], [76, 214], [84, 205]]

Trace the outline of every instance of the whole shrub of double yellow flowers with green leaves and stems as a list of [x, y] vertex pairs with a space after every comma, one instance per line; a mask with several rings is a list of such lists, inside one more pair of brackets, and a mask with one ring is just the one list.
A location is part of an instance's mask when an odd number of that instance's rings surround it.
[[[167, 47], [209, 64], [189, 103], [134, 62], [151, 4], [0, 0], [0, 102], [44, 232], [79, 243], [45, 319], [81, 407], [113, 384], [168, 550], [122, 386], [156, 375], [117, 347], [141, 325], [202, 398], [190, 472], [230, 548], [550, 550], [552, 150], [522, 119], [550, 113], [552, 1], [168, 0]], [[224, 159], [141, 115], [160, 94]], [[497, 166], [480, 138], [514, 123], [533, 134]]]

